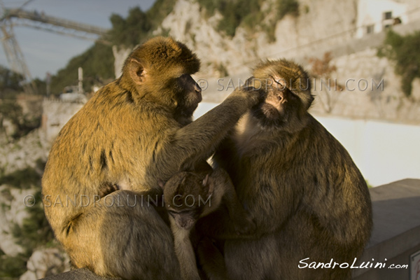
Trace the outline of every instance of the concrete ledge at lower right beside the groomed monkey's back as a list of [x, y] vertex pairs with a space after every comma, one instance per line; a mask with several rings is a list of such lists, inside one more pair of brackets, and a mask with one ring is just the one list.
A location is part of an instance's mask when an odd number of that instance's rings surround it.
[[353, 269], [353, 279], [420, 279], [419, 263], [411, 260], [420, 253], [420, 180], [405, 179], [372, 188], [370, 196], [373, 232], [358, 264], [369, 261], [385, 265]]

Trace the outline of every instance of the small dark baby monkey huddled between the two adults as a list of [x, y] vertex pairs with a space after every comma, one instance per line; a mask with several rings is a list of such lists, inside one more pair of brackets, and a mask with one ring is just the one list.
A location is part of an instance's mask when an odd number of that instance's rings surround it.
[[255, 224], [239, 203], [235, 187], [223, 169], [208, 167], [204, 172], [179, 172], [159, 185], [163, 189], [183, 280], [200, 279], [190, 231], [200, 218], [221, 207], [222, 202], [238, 235], [255, 230]]

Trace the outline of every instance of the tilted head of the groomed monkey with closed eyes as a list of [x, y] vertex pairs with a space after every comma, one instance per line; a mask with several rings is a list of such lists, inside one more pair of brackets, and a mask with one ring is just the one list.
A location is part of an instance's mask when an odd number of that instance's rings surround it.
[[250, 80], [253, 87], [265, 92], [262, 102], [251, 110], [261, 127], [300, 127], [314, 100], [309, 76], [302, 66], [286, 59], [267, 60], [255, 67]]

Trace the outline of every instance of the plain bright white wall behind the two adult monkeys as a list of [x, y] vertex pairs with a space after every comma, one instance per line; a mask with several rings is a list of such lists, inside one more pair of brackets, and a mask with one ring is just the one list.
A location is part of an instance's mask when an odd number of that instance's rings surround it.
[[[200, 104], [195, 116], [202, 116], [216, 105]], [[420, 179], [420, 126], [337, 117], [315, 118], [349, 151], [370, 185]]]

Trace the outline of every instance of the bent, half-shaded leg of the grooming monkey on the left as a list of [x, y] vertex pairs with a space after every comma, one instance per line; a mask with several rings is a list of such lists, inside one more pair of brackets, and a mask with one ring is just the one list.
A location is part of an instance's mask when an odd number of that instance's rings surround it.
[[172, 232], [141, 193], [118, 190], [90, 204], [63, 245], [76, 267], [102, 276], [181, 279]]

